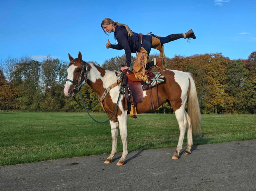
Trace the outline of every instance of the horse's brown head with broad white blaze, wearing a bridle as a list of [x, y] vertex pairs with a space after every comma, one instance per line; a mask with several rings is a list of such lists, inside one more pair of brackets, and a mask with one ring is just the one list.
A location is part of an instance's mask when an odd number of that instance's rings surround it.
[[[86, 72], [88, 65], [82, 60], [81, 52], [78, 53], [78, 58], [74, 59], [69, 54], [68, 77], [64, 88], [64, 94], [68, 97], [74, 96], [74, 92], [78, 91], [86, 82]], [[86, 65], [86, 66], [85, 66]]]

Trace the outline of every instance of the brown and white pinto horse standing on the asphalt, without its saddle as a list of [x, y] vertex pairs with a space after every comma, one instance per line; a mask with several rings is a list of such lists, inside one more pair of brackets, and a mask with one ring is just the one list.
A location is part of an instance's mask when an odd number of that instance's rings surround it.
[[[111, 163], [117, 152], [116, 148], [119, 128], [123, 144], [123, 152], [116, 165], [123, 165], [128, 154], [128, 109], [123, 107], [123, 102], [127, 101], [122, 96], [120, 97], [120, 101], [118, 101], [121, 87], [117, 85], [119, 79], [116, 72], [83, 61], [81, 52], [79, 52], [78, 58], [76, 59], [69, 54], [69, 60], [70, 63], [67, 69], [68, 77], [64, 87], [64, 94], [67, 97], [72, 97], [74, 96], [75, 90], [78, 90], [81, 86], [87, 83], [99, 97], [105, 95], [104, 101], [102, 101], [101, 104], [107, 115], [109, 117], [112, 116], [110, 120], [112, 150], [104, 163]], [[182, 149], [185, 131], [187, 130], [187, 148], [184, 151], [184, 154], [191, 153], [191, 147], [193, 146], [192, 135], [201, 134], [201, 113], [196, 85], [190, 73], [177, 70], [163, 70], [160, 73], [165, 77], [166, 82], [152, 88], [152, 90], [143, 91], [143, 101], [137, 103], [136, 109], [137, 113], [145, 113], [157, 109], [157, 106], [163, 104], [165, 101], [171, 105], [180, 131], [178, 144], [172, 159], [179, 159], [179, 152]], [[109, 87], [113, 88], [109, 90]], [[107, 89], [109, 90], [108, 93], [106, 93]], [[151, 101], [155, 103], [153, 104], [153, 108]], [[159, 104], [156, 104], [157, 102], [159, 102]], [[185, 110], [186, 106], [187, 111]], [[115, 108], [117, 109], [115, 110]]]

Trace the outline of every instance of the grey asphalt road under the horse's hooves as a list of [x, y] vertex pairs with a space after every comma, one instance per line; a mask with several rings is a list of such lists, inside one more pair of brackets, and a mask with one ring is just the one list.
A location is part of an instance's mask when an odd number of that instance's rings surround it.
[[129, 152], [124, 166], [108, 155], [0, 166], [1, 191], [256, 190], [256, 140], [195, 145], [190, 155], [175, 148]]

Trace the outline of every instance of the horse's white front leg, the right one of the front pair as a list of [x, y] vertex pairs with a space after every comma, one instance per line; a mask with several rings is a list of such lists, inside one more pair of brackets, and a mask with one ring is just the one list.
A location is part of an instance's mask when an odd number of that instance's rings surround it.
[[121, 166], [124, 164], [124, 160], [128, 154], [127, 150], [127, 110], [118, 116], [120, 136], [123, 143], [122, 157], [119, 159], [117, 165]]

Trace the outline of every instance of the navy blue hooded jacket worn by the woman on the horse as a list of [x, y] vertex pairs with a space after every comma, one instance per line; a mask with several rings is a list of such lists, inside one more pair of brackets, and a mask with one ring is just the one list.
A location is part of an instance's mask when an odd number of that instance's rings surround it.
[[132, 53], [140, 51], [141, 39], [138, 33], [133, 33], [131, 37], [128, 36], [128, 32], [125, 26], [116, 26], [115, 38], [118, 42], [117, 45], [112, 45], [111, 48], [116, 50], [124, 49], [126, 56], [126, 66], [130, 67]]

